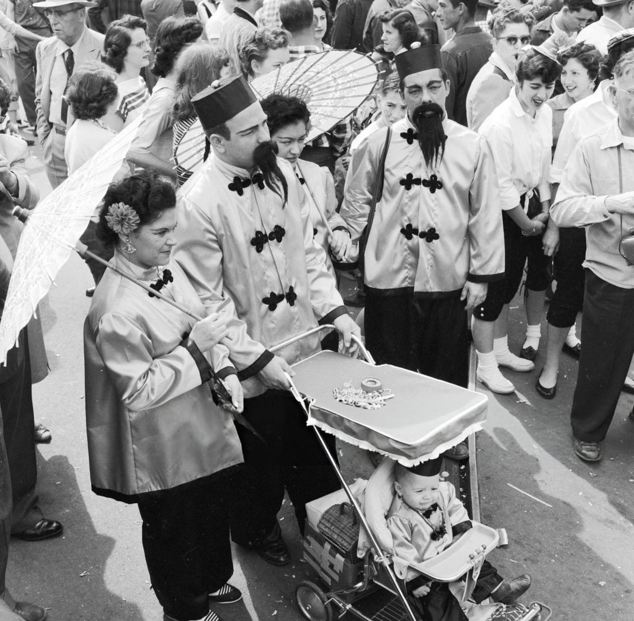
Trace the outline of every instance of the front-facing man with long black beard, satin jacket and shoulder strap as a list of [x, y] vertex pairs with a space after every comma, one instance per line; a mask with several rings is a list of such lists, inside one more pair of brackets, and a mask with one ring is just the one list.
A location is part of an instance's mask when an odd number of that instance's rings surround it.
[[365, 230], [366, 344], [377, 363], [466, 386], [466, 312], [504, 276], [493, 158], [447, 118], [437, 45], [395, 61], [408, 113], [354, 153], [340, 212], [353, 242]]

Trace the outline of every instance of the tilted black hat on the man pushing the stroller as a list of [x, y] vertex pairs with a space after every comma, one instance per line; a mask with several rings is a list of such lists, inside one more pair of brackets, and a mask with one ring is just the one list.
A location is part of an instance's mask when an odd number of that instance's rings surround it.
[[256, 95], [243, 76], [216, 80], [191, 98], [205, 131], [233, 119], [255, 102]]

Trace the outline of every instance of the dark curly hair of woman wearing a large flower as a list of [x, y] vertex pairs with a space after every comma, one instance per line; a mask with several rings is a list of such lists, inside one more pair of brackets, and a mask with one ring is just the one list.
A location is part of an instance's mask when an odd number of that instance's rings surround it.
[[113, 248], [119, 241], [119, 234], [108, 226], [106, 220], [108, 207], [115, 203], [124, 203], [133, 208], [140, 220], [139, 227], [142, 227], [157, 220], [163, 211], [175, 207], [176, 193], [170, 182], [146, 170], [110, 185], [103, 197], [96, 229], [98, 239], [108, 248]]

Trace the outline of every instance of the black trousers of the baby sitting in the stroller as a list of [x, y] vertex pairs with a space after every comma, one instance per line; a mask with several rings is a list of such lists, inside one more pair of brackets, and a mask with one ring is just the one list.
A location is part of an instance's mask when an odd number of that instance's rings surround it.
[[[475, 603], [479, 604], [488, 598], [502, 580], [496, 568], [489, 561], [484, 561], [472, 594]], [[411, 595], [408, 597], [413, 610], [417, 611], [424, 621], [467, 621], [460, 603], [446, 582], [432, 582], [430, 587], [429, 594], [423, 598]]]

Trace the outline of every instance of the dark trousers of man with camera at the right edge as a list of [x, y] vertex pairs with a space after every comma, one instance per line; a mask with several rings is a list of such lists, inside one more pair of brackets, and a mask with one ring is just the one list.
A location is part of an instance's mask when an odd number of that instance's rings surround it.
[[606, 283], [586, 270], [583, 298], [583, 347], [574, 389], [573, 434], [600, 442], [614, 417], [634, 354], [634, 289]]

